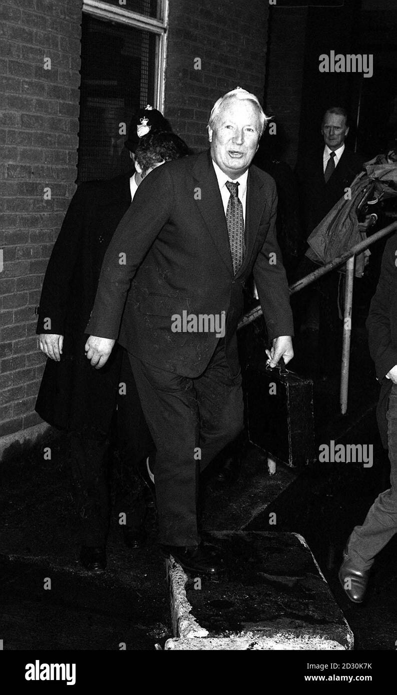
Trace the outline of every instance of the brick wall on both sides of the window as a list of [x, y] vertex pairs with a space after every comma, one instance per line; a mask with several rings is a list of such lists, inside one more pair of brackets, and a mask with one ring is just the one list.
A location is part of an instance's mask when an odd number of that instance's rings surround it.
[[[75, 188], [81, 4], [1, 0], [0, 436], [41, 422], [35, 306]], [[211, 106], [227, 90], [261, 100], [267, 20], [264, 0], [170, 1], [165, 115], [191, 147], [207, 147]]]

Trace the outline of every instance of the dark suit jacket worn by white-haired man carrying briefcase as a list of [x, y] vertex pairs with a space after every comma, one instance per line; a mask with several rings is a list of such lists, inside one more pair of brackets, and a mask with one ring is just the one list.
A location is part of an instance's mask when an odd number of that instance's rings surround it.
[[225, 212], [209, 152], [158, 167], [141, 183], [108, 247], [86, 332], [117, 338], [121, 322], [119, 341], [129, 352], [193, 378], [206, 368], [218, 338], [211, 332], [174, 333], [171, 317], [182, 316], [183, 311], [195, 315], [225, 311], [227, 359], [232, 373], [238, 373], [236, 326], [243, 310], [243, 285], [252, 269], [270, 340], [293, 334], [289, 291], [275, 238], [276, 206], [275, 182], [250, 167], [245, 257], [234, 277]]

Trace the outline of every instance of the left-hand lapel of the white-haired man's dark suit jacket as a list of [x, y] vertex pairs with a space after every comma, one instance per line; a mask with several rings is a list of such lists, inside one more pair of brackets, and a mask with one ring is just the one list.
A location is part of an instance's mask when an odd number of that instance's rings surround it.
[[193, 178], [195, 179], [196, 188], [200, 189], [200, 197], [195, 196], [197, 208], [202, 215], [222, 261], [233, 275], [232, 254], [230, 252], [229, 235], [227, 234], [225, 211], [209, 150], [197, 157], [193, 167]]

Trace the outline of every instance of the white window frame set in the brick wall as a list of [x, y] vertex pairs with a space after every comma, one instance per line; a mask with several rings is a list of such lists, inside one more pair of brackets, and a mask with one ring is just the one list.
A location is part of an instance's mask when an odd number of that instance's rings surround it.
[[[145, 17], [138, 13], [127, 10], [124, 6], [117, 7], [101, 2], [101, 0], [83, 0], [83, 12], [97, 17], [97, 19], [107, 19], [116, 24], [127, 24], [137, 29], [150, 31], [156, 34], [156, 56], [154, 63], [154, 108], [164, 111], [164, 91], [165, 91], [165, 63], [167, 58], [167, 26], [168, 26], [168, 0], [160, 1], [160, 17]], [[146, 106], [146, 104], [143, 104]]]

